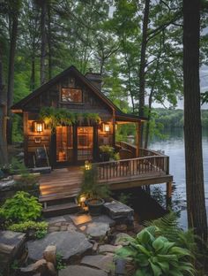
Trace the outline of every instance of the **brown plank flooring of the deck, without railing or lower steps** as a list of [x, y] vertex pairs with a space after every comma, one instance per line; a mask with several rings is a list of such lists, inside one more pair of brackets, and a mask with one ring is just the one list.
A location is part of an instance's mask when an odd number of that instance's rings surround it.
[[[42, 174], [40, 178], [40, 200], [44, 202], [51, 198], [65, 198], [78, 196], [82, 181], [82, 170], [79, 166], [71, 166], [64, 169], [56, 169], [49, 174]], [[164, 172], [141, 173], [113, 177], [108, 180], [100, 180], [107, 183], [112, 189], [139, 187], [173, 181], [173, 176]]]

